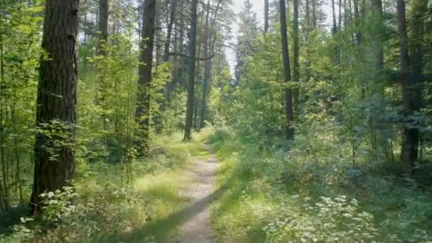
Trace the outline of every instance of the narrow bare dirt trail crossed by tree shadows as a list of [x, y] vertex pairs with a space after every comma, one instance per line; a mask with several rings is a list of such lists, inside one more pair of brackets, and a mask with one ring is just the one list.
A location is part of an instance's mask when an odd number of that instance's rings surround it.
[[[205, 147], [212, 151], [210, 146]], [[185, 222], [181, 227], [181, 239], [183, 243], [207, 243], [212, 242], [212, 229], [210, 227], [210, 205], [215, 194], [215, 172], [217, 170], [217, 158], [212, 153], [210, 158], [199, 158], [185, 168], [185, 176], [191, 178], [188, 188], [182, 194], [192, 198], [185, 209]]]

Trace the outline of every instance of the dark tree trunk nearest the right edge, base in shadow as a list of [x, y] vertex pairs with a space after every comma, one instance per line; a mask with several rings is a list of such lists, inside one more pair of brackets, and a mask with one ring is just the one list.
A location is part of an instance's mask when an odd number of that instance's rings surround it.
[[[411, 70], [409, 63], [408, 36], [406, 34], [406, 15], [404, 0], [397, 0], [397, 22], [399, 30], [399, 59], [401, 61], [401, 82], [402, 82], [402, 100], [404, 104], [404, 116], [406, 121], [412, 121], [410, 116], [416, 111], [414, 99], [416, 94], [411, 82]], [[414, 167], [414, 161], [417, 159], [417, 150], [419, 146], [419, 129], [409, 125], [404, 125], [402, 134], [401, 160], [409, 168]]]

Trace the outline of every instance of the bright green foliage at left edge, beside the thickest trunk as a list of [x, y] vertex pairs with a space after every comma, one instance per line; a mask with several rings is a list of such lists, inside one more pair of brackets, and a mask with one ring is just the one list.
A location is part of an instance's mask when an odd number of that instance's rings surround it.
[[0, 1], [0, 211], [31, 182], [42, 11], [41, 1]]

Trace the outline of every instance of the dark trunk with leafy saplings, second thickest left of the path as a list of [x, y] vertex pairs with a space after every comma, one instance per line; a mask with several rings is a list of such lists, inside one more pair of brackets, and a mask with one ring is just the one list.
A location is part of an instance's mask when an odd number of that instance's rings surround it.
[[139, 65], [138, 93], [135, 119], [138, 124], [136, 148], [140, 156], [148, 155], [150, 131], [150, 87], [153, 66], [153, 43], [155, 32], [156, 0], [146, 0], [144, 6], [144, 26]]

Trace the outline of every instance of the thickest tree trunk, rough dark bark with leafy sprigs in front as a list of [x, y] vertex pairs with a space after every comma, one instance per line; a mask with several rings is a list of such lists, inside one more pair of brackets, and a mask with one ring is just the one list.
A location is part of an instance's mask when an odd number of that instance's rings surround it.
[[45, 192], [70, 185], [77, 89], [77, 40], [80, 0], [46, 0], [36, 113], [35, 168], [31, 205], [41, 210]]

